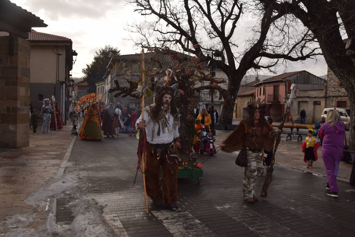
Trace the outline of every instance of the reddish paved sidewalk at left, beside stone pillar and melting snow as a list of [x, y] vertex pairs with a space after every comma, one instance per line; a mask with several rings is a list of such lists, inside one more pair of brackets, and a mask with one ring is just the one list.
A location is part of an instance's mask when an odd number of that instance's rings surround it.
[[62, 130], [37, 133], [29, 130], [29, 146], [20, 149], [0, 149], [0, 222], [7, 215], [24, 214], [35, 210], [24, 200], [42, 187], [43, 182], [58, 172], [73, 135], [67, 123]]

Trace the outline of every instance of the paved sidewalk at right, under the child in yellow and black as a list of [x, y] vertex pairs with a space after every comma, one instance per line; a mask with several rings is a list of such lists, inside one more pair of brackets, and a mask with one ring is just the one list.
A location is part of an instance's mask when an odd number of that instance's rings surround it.
[[[216, 142], [215, 145], [219, 146], [221, 142], [231, 133], [232, 131], [227, 130], [216, 130]], [[326, 172], [324, 170], [324, 162], [322, 159], [322, 147], [318, 148], [318, 160], [313, 164], [312, 168], [305, 168], [302, 166], [306, 166], [307, 164], [304, 162], [303, 157], [304, 153], [302, 153], [302, 142], [297, 142], [295, 140], [297, 136], [293, 136], [294, 140], [286, 141], [286, 135], [281, 135], [281, 142], [278, 146], [277, 152], [275, 154], [275, 162], [278, 164], [290, 166], [292, 168], [300, 169], [302, 171], [317, 173], [326, 176]], [[302, 136], [305, 139], [305, 136]], [[338, 178], [340, 180], [349, 182], [351, 169], [353, 168], [353, 164], [340, 161], [339, 164], [339, 174]]]

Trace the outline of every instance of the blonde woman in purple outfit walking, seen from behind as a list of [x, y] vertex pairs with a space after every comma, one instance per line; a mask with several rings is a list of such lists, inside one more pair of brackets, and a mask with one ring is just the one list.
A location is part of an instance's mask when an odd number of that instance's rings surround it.
[[338, 197], [337, 175], [340, 157], [344, 151], [345, 126], [340, 120], [340, 114], [335, 109], [328, 112], [326, 123], [321, 126], [318, 132], [320, 139], [323, 139], [322, 158], [328, 181], [326, 189], [331, 190], [327, 194], [334, 198]]

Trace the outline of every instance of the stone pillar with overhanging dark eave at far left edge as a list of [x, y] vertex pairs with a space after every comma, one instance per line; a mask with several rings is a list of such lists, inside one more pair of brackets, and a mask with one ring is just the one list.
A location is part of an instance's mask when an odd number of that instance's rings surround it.
[[0, 0], [0, 147], [29, 145], [29, 85], [32, 27], [47, 27], [39, 17]]

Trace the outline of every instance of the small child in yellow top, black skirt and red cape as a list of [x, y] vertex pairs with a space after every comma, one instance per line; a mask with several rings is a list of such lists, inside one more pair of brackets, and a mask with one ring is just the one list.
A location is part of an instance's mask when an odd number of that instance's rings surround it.
[[308, 132], [306, 140], [302, 143], [302, 152], [305, 153], [303, 160], [307, 163], [307, 168], [313, 166], [313, 162], [318, 160], [317, 149], [320, 147], [317, 138], [313, 136], [312, 126], [307, 126]]

